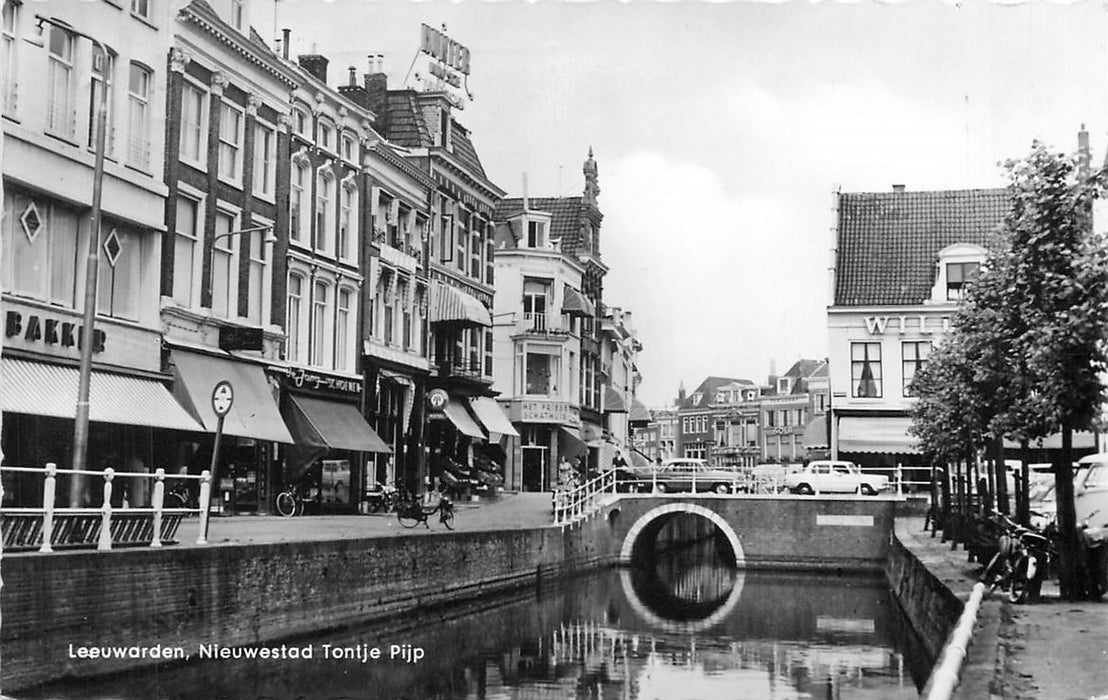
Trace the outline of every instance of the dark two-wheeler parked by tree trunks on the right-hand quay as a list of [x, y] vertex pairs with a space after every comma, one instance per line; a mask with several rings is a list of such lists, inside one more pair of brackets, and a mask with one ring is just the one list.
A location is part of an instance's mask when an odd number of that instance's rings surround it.
[[1007, 590], [1012, 603], [1037, 600], [1055, 556], [1050, 538], [1003, 514], [996, 514], [994, 522], [1004, 532], [981, 580], [988, 585], [989, 593], [996, 588]]

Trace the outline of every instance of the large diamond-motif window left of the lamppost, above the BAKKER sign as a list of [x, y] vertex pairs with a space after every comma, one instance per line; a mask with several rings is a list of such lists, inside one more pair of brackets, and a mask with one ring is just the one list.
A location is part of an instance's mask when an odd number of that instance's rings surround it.
[[78, 212], [35, 202], [11, 188], [3, 204], [0, 238], [11, 292], [74, 308], [81, 220]]

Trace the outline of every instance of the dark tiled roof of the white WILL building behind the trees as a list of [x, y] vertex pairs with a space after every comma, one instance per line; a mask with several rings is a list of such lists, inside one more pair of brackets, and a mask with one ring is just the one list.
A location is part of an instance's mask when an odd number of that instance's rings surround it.
[[835, 306], [917, 305], [931, 296], [943, 248], [991, 248], [1008, 212], [1005, 189], [843, 193]]

